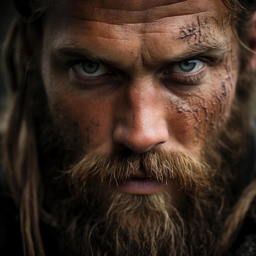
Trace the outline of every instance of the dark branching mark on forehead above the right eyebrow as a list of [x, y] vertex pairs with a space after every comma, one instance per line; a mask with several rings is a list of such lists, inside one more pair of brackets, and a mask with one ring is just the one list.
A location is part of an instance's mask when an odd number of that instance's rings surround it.
[[207, 38], [209, 38], [209, 34], [209, 19], [204, 18], [204, 20], [200, 20], [199, 16], [197, 16], [196, 22], [192, 22], [192, 24], [180, 28], [179, 38], [186, 40], [189, 44], [196, 44], [208, 41]]

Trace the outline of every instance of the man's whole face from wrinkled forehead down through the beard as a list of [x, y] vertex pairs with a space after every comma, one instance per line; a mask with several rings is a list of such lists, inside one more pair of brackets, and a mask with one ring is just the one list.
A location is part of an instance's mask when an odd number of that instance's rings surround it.
[[63, 164], [72, 196], [56, 209], [45, 198], [72, 255], [211, 255], [229, 172], [218, 152], [206, 155], [231, 115], [238, 74], [227, 16], [220, 0], [47, 9], [41, 75], [75, 161]]

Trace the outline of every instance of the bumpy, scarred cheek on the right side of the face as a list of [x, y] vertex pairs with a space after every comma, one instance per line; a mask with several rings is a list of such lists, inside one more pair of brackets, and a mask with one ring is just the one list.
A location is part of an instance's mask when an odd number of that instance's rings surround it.
[[216, 132], [227, 120], [234, 100], [238, 68], [230, 51], [225, 61], [212, 70], [204, 84], [192, 88], [185, 96], [171, 101], [171, 133], [190, 152], [200, 154], [207, 135]]

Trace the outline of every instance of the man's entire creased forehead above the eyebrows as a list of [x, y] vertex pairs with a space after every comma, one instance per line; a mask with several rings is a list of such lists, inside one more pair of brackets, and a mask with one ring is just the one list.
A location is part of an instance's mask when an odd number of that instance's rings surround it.
[[186, 48], [227, 44], [223, 22], [228, 13], [221, 0], [52, 2], [44, 27], [46, 43], [53, 51], [83, 47], [85, 54], [88, 50], [90, 55], [104, 55], [114, 62], [124, 51], [133, 56], [144, 52], [148, 62], [155, 63], [164, 56], [170, 60], [184, 55]]

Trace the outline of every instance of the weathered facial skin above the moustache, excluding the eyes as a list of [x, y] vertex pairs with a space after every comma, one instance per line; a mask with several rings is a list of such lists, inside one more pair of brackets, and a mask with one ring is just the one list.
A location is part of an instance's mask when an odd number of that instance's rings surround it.
[[[237, 40], [222, 2], [54, 4], [41, 63], [68, 145], [83, 153], [155, 147], [200, 157], [207, 135], [229, 115], [238, 73]], [[177, 72], [177, 63], [195, 58], [204, 62], [199, 70]], [[81, 74], [78, 63], [86, 59], [105, 65], [105, 74]]]

